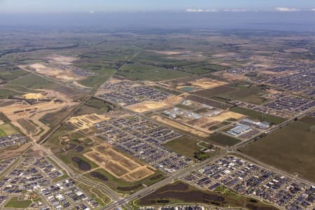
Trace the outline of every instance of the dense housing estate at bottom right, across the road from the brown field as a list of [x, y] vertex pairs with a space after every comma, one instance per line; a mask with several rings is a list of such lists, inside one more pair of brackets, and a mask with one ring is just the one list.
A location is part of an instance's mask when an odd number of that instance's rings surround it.
[[225, 186], [242, 195], [258, 197], [285, 209], [302, 210], [315, 207], [314, 186], [235, 156], [216, 160], [198, 172], [189, 174], [184, 180], [209, 190]]

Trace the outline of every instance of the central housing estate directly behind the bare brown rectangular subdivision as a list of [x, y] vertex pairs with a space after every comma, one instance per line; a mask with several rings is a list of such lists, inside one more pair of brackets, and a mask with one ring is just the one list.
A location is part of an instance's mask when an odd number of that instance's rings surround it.
[[163, 143], [181, 137], [181, 134], [132, 116], [96, 123], [98, 136], [121, 151], [144, 160], [165, 172], [173, 173], [186, 167], [191, 161], [162, 146]]

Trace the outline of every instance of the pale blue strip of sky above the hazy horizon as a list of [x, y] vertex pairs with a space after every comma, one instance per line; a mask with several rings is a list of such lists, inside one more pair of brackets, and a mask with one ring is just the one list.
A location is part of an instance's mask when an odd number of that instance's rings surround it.
[[312, 9], [315, 0], [0, 0], [2, 13]]

